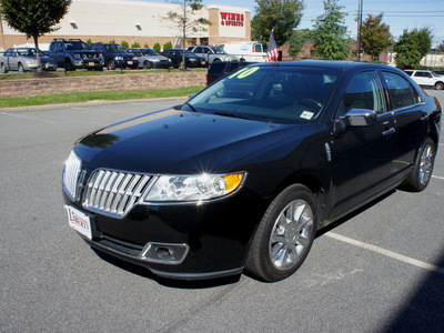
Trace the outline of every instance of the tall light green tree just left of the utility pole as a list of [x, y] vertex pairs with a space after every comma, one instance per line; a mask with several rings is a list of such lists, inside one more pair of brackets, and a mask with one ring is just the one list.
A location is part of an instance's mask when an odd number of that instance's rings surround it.
[[343, 60], [349, 56], [346, 13], [341, 11], [344, 7], [337, 0], [324, 1], [324, 13], [316, 19], [314, 24], [315, 56], [329, 60]]

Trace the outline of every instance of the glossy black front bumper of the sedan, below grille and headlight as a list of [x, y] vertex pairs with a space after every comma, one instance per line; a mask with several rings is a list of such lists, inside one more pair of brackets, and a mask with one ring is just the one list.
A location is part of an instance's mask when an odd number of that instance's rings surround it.
[[155, 275], [182, 280], [240, 274], [263, 214], [259, 208], [266, 206], [236, 194], [202, 205], [135, 205], [117, 219], [89, 212], [63, 194], [67, 203], [91, 216], [92, 240], [82, 238], [92, 248]]

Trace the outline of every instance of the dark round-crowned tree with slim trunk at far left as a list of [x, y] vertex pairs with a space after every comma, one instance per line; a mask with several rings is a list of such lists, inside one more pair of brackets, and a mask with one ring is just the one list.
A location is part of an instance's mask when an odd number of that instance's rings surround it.
[[59, 30], [54, 27], [68, 12], [71, 0], [2, 0], [0, 13], [8, 24], [32, 38], [37, 49], [38, 72], [41, 72], [39, 37]]

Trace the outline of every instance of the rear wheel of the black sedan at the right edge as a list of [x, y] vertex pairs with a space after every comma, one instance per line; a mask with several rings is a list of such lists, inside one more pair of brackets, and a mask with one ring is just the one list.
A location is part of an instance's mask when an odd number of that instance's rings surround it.
[[406, 190], [421, 192], [428, 185], [432, 179], [435, 153], [435, 144], [431, 138], [427, 138], [417, 151], [415, 165], [404, 184]]

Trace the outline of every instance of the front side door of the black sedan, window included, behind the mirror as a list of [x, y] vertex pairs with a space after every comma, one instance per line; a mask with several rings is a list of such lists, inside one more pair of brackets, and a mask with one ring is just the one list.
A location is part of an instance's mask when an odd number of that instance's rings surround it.
[[[376, 112], [371, 127], [347, 128], [342, 120], [352, 109]], [[341, 215], [385, 189], [392, 173], [395, 123], [387, 112], [376, 71], [356, 73], [346, 85], [331, 142], [332, 215]]]

